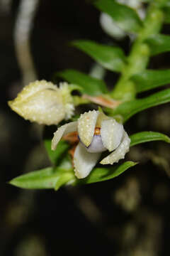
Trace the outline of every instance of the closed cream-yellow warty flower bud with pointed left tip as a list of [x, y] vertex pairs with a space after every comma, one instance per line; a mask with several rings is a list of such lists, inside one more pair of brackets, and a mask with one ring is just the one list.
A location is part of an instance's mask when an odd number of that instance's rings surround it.
[[31, 122], [58, 124], [62, 119], [72, 117], [74, 113], [70, 92], [67, 82], [62, 82], [57, 87], [52, 82], [37, 80], [24, 87], [8, 105]]

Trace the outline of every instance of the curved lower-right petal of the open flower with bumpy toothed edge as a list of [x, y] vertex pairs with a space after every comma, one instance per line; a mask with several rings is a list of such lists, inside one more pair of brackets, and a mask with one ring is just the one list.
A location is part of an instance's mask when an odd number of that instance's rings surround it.
[[129, 151], [130, 148], [130, 138], [128, 134], [124, 132], [123, 141], [118, 146], [118, 149], [115, 149], [113, 153], [106, 156], [103, 160], [101, 160], [100, 164], [113, 164], [117, 163], [120, 159], [124, 159], [125, 154]]

